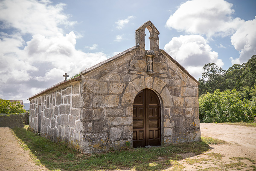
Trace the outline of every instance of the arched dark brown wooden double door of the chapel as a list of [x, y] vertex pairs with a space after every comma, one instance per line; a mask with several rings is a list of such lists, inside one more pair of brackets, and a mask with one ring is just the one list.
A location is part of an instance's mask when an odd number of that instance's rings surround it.
[[157, 94], [140, 91], [133, 107], [133, 147], [161, 145], [161, 112]]

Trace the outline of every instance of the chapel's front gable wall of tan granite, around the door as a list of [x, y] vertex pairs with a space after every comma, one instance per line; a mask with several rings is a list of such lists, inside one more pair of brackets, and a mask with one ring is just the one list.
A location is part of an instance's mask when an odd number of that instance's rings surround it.
[[161, 51], [146, 72], [146, 52], [134, 49], [82, 75], [85, 153], [132, 146], [133, 102], [146, 88], [161, 101], [162, 145], [200, 140], [197, 82]]

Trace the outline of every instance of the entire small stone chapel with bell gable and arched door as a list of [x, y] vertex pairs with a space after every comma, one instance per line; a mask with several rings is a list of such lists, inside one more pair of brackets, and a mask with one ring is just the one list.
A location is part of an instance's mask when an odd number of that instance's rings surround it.
[[30, 130], [84, 153], [199, 141], [198, 81], [151, 21], [135, 32], [136, 46], [30, 97]]

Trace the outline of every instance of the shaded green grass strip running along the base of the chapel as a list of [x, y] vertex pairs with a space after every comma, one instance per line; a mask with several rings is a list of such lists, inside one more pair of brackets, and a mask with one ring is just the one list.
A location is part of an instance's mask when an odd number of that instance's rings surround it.
[[[201, 154], [209, 150], [204, 142], [180, 143], [155, 148], [127, 148], [120, 151], [108, 151], [102, 154], [81, 154], [64, 143], [51, 142], [26, 128], [13, 128], [21, 147], [29, 150], [37, 164], [45, 165], [49, 170], [94, 171], [134, 169], [140, 171], [160, 171], [169, 167], [180, 171], [184, 167], [178, 161], [177, 154]], [[160, 159], [161, 158], [161, 159]]]

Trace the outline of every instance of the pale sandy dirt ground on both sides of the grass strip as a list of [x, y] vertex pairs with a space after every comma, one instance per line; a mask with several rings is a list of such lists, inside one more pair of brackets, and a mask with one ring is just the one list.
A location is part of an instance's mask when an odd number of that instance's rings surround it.
[[[227, 145], [210, 145], [208, 152], [180, 154], [183, 171], [253, 171], [256, 168], [256, 127], [201, 123], [201, 136], [222, 139]], [[173, 167], [166, 170], [172, 170]], [[17, 143], [10, 128], [0, 128], [0, 171], [48, 171], [38, 166]]]

